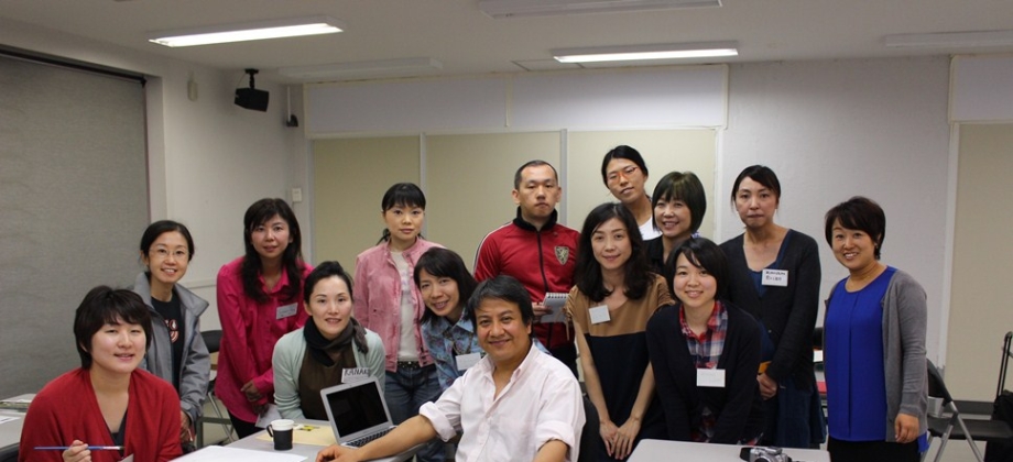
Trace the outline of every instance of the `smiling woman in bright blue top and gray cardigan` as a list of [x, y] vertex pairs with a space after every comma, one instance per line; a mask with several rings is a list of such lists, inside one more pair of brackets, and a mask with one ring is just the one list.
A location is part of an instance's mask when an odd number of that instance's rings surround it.
[[827, 450], [834, 462], [918, 461], [928, 450], [925, 290], [880, 262], [886, 215], [874, 201], [838, 204], [825, 232], [848, 268], [824, 320]]

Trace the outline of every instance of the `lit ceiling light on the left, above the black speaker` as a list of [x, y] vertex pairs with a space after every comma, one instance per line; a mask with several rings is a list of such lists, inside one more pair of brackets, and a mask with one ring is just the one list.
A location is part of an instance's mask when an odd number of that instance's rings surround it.
[[341, 32], [344, 29], [344, 23], [330, 16], [293, 18], [276, 21], [260, 21], [243, 24], [214, 25], [159, 32], [152, 34], [149, 42], [171, 47], [195, 46], [216, 43], [247, 42], [251, 40], [334, 34]]

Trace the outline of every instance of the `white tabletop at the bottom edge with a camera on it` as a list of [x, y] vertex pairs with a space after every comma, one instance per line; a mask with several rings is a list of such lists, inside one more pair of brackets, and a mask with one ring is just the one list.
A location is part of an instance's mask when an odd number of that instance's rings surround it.
[[[736, 462], [744, 448], [734, 444], [709, 444], [684, 441], [641, 440], [630, 454], [629, 462]], [[792, 460], [805, 462], [830, 462], [830, 453], [818, 449], [785, 449]]]

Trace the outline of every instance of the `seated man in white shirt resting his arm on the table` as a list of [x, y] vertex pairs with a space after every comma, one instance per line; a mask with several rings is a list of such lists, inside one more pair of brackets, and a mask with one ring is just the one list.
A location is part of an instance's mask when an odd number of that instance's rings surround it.
[[585, 422], [580, 385], [563, 363], [532, 348], [527, 290], [510, 276], [494, 277], [478, 286], [466, 311], [486, 358], [383, 438], [360, 449], [328, 447], [317, 462], [389, 457], [458, 432], [459, 462], [577, 460]]

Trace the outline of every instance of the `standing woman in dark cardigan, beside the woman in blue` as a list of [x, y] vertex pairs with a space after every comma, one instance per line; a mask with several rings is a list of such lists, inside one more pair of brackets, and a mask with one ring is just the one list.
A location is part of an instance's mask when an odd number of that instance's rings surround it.
[[826, 431], [813, 369], [819, 246], [774, 222], [781, 182], [770, 167], [742, 169], [731, 188], [731, 204], [745, 232], [721, 244], [729, 265], [728, 301], [766, 330], [756, 376], [766, 416], [761, 444], [810, 448], [824, 441]]

